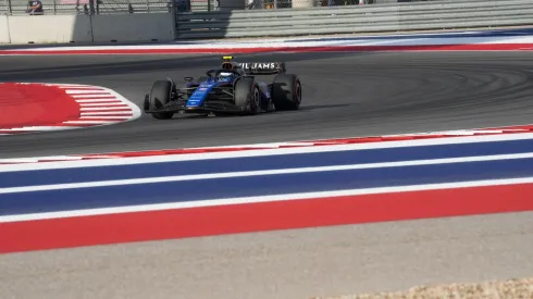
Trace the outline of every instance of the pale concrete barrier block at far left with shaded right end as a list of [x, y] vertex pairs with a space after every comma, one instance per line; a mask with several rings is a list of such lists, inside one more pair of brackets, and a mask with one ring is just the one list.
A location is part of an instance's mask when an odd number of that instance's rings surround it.
[[11, 43], [92, 41], [88, 15], [14, 15], [8, 27]]

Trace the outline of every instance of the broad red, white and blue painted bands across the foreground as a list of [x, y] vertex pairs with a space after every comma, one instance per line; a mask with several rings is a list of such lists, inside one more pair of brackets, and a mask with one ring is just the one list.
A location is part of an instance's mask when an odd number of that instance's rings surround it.
[[529, 211], [530, 128], [21, 159], [0, 165], [0, 251]]

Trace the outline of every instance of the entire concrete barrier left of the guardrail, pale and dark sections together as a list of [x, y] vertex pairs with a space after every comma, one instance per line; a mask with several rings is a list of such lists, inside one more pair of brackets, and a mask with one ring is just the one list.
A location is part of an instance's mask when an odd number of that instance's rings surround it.
[[171, 41], [172, 13], [0, 16], [0, 43]]

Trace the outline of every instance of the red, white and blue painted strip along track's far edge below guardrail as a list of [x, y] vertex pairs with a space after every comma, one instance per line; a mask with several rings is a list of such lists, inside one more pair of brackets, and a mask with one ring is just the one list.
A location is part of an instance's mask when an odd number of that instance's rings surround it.
[[529, 51], [532, 32], [466, 32], [388, 36], [325, 36], [261, 40], [201, 40], [161, 45], [59, 46], [0, 50], [0, 55], [58, 54], [199, 54], [330, 51]]

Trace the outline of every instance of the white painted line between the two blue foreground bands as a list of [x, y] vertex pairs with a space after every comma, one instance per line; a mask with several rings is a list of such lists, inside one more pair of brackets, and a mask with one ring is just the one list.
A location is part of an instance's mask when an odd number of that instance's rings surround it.
[[191, 174], [191, 175], [175, 175], [175, 176], [160, 176], [160, 177], [129, 178], [129, 179], [114, 179], [114, 180], [84, 182], [84, 183], [67, 183], [67, 184], [53, 184], [53, 185], [39, 185], [39, 186], [23, 186], [23, 187], [0, 188], [0, 194], [17, 194], [17, 192], [33, 192], [33, 191], [44, 191], [44, 190], [62, 190], [62, 189], [78, 189], [78, 188], [92, 188], [92, 187], [140, 185], [140, 184], [152, 184], [152, 183], [169, 183], [169, 182], [184, 182], [184, 180], [197, 180], [197, 179], [230, 178], [230, 177], [243, 177], [243, 176], [261, 176], [261, 175], [278, 175], [278, 174], [295, 174], [295, 173], [317, 173], [317, 172], [369, 170], [369, 169], [401, 167], [401, 166], [405, 167], [405, 166], [417, 166], [417, 165], [435, 165], [435, 164], [468, 163], [468, 162], [480, 162], [480, 161], [515, 160], [515, 159], [524, 159], [524, 158], [533, 158], [533, 153], [497, 154], [497, 155], [485, 155], [485, 157], [447, 158], [447, 159], [367, 163], [367, 164], [335, 165], [335, 166], [321, 166], [321, 167], [298, 167], [298, 169], [264, 170], [264, 171], [249, 171], [249, 172]]

